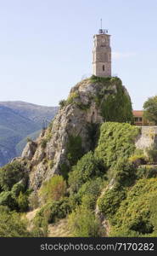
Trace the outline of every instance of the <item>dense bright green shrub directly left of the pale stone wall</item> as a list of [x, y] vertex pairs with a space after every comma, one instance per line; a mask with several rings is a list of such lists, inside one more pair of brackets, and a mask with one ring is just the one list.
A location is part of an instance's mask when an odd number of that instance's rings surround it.
[[135, 138], [139, 128], [129, 124], [108, 122], [101, 125], [95, 155], [104, 166], [114, 167], [120, 158], [127, 159], [135, 150]]

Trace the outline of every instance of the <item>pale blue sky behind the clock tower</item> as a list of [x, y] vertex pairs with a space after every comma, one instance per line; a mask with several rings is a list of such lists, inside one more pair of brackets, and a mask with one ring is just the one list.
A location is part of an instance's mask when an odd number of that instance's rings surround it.
[[101, 18], [112, 74], [142, 109], [157, 95], [156, 0], [0, 0], [0, 101], [57, 106], [92, 74]]

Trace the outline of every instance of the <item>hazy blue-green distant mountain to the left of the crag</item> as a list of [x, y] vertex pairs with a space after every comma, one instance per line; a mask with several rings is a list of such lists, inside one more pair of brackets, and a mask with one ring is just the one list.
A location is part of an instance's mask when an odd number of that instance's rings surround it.
[[20, 155], [26, 137], [35, 139], [57, 111], [27, 102], [0, 102], [0, 166]]

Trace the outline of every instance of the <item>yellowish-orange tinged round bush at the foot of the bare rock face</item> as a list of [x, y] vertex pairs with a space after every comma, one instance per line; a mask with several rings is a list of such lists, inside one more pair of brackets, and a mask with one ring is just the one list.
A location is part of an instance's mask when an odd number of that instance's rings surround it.
[[66, 182], [59, 175], [54, 175], [47, 182], [43, 183], [39, 195], [43, 202], [58, 201], [64, 197], [66, 191]]

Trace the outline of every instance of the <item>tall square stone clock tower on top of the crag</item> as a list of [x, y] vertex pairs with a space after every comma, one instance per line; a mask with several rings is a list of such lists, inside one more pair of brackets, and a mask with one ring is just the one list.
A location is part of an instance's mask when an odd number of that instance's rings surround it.
[[99, 29], [93, 36], [93, 74], [98, 77], [111, 76], [110, 35], [107, 30]]

